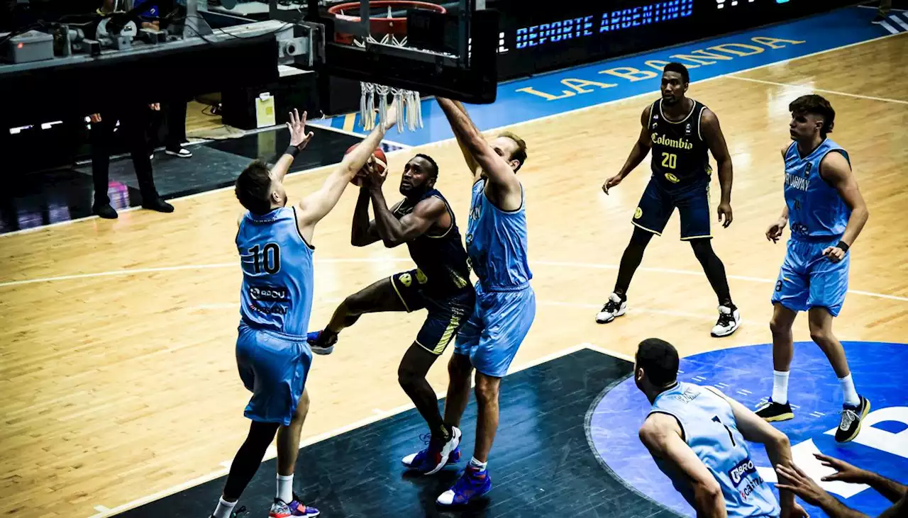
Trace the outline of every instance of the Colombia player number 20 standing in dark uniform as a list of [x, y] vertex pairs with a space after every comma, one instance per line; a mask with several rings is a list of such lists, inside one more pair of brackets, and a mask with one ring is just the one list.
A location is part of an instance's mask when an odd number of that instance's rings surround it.
[[703, 103], [686, 97], [689, 75], [683, 64], [670, 63], [662, 73], [662, 98], [647, 106], [640, 117], [640, 137], [630, 151], [624, 167], [609, 178], [602, 190], [608, 194], [634, 171], [650, 149], [653, 150], [653, 176], [634, 213], [634, 233], [621, 256], [615, 289], [596, 316], [606, 324], [627, 312], [627, 288], [643, 260], [643, 252], [653, 235], [661, 236], [672, 212], [681, 214], [681, 239], [690, 241], [696, 259], [706, 272], [706, 279], [719, 301], [719, 319], [713, 337], [727, 337], [741, 322], [738, 308], [732, 302], [725, 278], [725, 266], [716, 256], [710, 239], [709, 181], [712, 169], [708, 151], [713, 153], [719, 169], [722, 199], [718, 216], [727, 228], [732, 223], [732, 159], [719, 128], [716, 113]]

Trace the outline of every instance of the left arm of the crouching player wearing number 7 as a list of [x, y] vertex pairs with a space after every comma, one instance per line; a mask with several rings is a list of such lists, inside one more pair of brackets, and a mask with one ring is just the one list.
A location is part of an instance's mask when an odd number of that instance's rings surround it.
[[668, 464], [674, 474], [684, 476], [694, 491], [697, 518], [727, 516], [722, 488], [706, 466], [681, 438], [675, 417], [652, 414], [640, 428], [640, 441], [654, 457]]

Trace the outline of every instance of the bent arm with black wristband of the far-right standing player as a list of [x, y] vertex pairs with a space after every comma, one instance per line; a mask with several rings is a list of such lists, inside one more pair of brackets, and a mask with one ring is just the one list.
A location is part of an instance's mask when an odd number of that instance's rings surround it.
[[823, 250], [824, 256], [838, 262], [844, 259], [845, 252], [854, 244], [854, 239], [857, 239], [861, 230], [864, 229], [864, 224], [870, 218], [870, 211], [867, 210], [864, 196], [861, 195], [857, 181], [854, 180], [851, 165], [848, 164], [848, 160], [842, 153], [826, 154], [823, 161], [820, 162], [820, 177], [832, 185], [836, 191], [839, 191], [839, 196], [852, 211], [839, 244]]

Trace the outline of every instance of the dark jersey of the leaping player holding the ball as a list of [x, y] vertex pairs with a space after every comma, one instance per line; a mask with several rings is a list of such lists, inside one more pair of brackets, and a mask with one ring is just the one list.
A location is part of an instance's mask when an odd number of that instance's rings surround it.
[[451, 210], [448, 200], [436, 189], [429, 189], [419, 198], [407, 198], [394, 208], [394, 216], [400, 220], [410, 214], [419, 201], [435, 197], [444, 201], [451, 219], [448, 230], [440, 233], [427, 232], [416, 239], [407, 242], [410, 257], [416, 263], [419, 272], [425, 276], [417, 279], [423, 284], [423, 289], [429, 293], [446, 295], [469, 287], [469, 266], [467, 264], [467, 250], [460, 241], [460, 231], [454, 211]]

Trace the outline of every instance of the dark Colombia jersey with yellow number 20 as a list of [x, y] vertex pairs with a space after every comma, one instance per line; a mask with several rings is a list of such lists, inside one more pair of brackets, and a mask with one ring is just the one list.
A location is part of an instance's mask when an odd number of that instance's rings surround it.
[[700, 118], [706, 106], [699, 101], [680, 121], [669, 121], [662, 112], [662, 99], [649, 110], [649, 138], [653, 146], [653, 176], [668, 190], [683, 188], [697, 181], [709, 182], [709, 147], [700, 131]]

